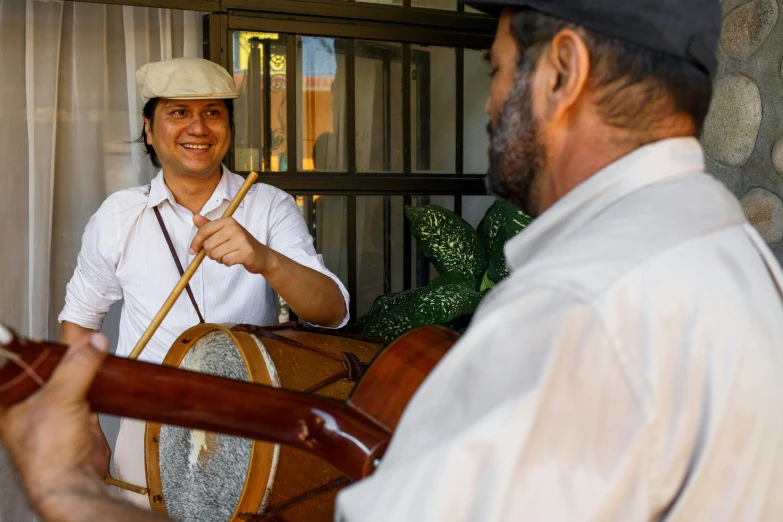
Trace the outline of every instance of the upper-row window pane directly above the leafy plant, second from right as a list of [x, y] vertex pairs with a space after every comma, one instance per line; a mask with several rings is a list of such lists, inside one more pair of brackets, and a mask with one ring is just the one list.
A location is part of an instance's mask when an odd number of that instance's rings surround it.
[[411, 167], [455, 171], [456, 53], [452, 47], [411, 46]]

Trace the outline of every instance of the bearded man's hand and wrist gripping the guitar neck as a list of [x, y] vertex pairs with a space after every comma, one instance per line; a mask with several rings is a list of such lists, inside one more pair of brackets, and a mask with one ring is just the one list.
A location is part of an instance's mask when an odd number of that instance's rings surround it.
[[79, 337], [38, 392], [0, 409], [0, 438], [46, 522], [163, 520], [110, 496], [103, 483], [105, 438], [86, 397], [107, 348], [102, 335]]

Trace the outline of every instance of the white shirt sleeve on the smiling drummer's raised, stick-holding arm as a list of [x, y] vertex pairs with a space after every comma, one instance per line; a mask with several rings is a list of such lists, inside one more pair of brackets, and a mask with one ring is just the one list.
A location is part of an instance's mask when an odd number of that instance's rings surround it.
[[324, 274], [334, 281], [340, 289], [345, 302], [345, 315], [335, 328], [342, 328], [348, 324], [350, 319], [348, 311], [350, 296], [348, 291], [345, 289], [342, 281], [326, 268], [323, 257], [316, 253], [315, 247], [313, 247], [313, 237], [307, 229], [307, 223], [305, 223], [302, 214], [299, 212], [299, 207], [296, 206], [294, 198], [282, 191], [277, 192], [272, 206], [269, 243], [267, 246], [300, 265]]

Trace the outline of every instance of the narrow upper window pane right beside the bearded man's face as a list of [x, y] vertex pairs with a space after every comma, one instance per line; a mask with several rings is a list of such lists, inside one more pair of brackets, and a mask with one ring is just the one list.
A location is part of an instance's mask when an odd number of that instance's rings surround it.
[[491, 67], [484, 60], [484, 51], [465, 49], [464, 83], [464, 126], [463, 132], [463, 172], [465, 174], [486, 174], [489, 169], [489, 134], [484, 106], [489, 97], [492, 84]]

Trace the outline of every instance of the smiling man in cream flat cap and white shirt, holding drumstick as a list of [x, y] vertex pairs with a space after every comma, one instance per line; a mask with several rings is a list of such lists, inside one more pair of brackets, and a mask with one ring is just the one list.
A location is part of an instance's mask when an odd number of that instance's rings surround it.
[[[160, 363], [199, 322], [277, 324], [275, 292], [304, 320], [339, 327], [348, 294], [313, 248], [293, 198], [255, 184], [233, 217], [221, 215], [243, 183], [222, 165], [233, 133], [234, 79], [198, 58], [149, 63], [136, 74], [144, 100], [141, 141], [161, 171], [152, 183], [111, 195], [90, 219], [60, 314], [60, 340], [100, 330], [124, 299], [117, 355], [128, 355], [174, 288], [180, 267], [206, 260], [140, 360]], [[145, 483], [141, 421], [123, 420], [115, 467]], [[149, 503], [141, 495], [123, 493]]]

